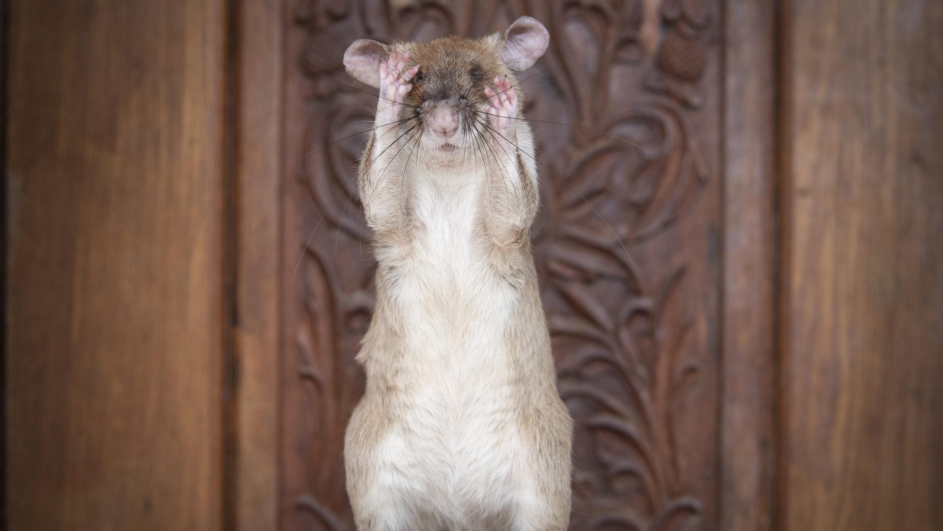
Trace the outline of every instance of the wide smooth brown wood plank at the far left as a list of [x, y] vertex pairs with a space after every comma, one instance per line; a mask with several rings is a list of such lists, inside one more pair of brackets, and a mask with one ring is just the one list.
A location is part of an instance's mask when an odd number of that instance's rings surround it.
[[222, 14], [11, 3], [8, 529], [221, 526]]

